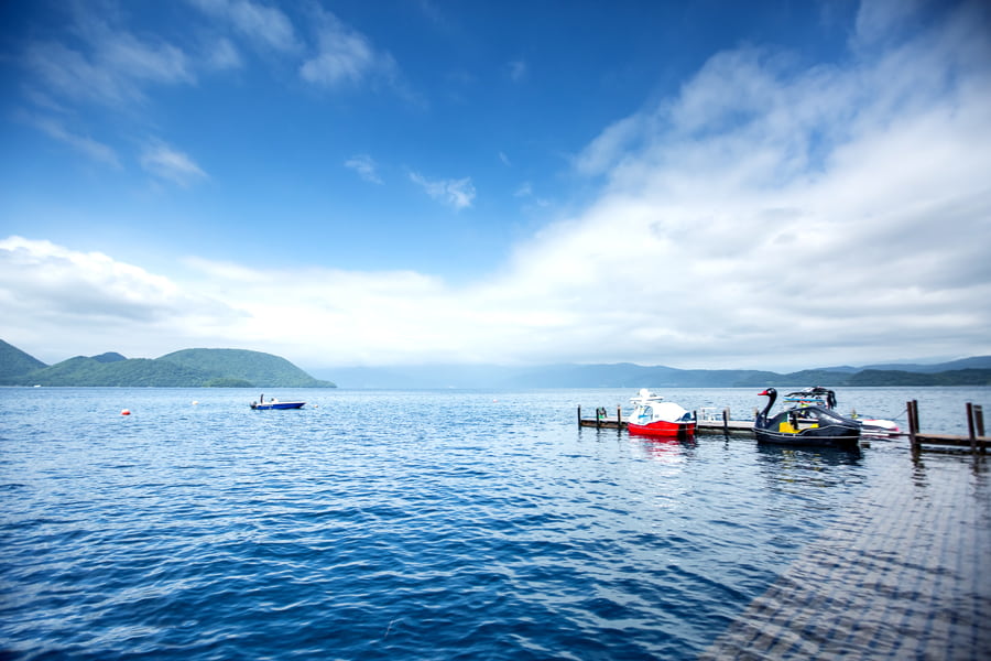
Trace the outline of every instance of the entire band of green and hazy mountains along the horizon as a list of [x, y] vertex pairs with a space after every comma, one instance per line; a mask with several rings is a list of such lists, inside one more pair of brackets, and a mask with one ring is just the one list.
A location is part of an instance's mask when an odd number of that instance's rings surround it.
[[[676, 369], [609, 365], [431, 365], [303, 371], [285, 358], [246, 349], [183, 349], [160, 358], [117, 353], [45, 365], [0, 340], [0, 386], [148, 386], [233, 388], [764, 388], [808, 386], [991, 386], [991, 356], [939, 364], [825, 367], [791, 373], [749, 369]], [[329, 379], [333, 378], [334, 381]], [[336, 382], [336, 383], [335, 383]]]

